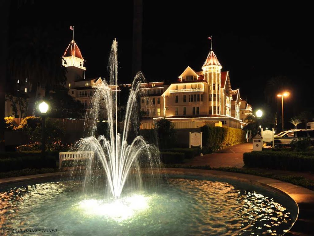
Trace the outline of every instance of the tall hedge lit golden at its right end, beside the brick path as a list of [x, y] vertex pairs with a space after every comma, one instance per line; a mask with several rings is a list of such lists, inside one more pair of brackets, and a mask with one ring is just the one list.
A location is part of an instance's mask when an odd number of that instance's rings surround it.
[[242, 129], [230, 127], [203, 126], [203, 146], [213, 151], [245, 142], [245, 132]]

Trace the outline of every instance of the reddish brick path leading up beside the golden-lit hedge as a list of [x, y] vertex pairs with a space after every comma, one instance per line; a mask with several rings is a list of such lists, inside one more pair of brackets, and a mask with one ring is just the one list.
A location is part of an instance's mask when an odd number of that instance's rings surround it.
[[238, 167], [244, 166], [243, 153], [253, 150], [252, 143], [240, 143], [228, 148], [222, 149], [216, 153], [196, 156], [187, 161], [187, 166], [206, 166], [210, 167]]

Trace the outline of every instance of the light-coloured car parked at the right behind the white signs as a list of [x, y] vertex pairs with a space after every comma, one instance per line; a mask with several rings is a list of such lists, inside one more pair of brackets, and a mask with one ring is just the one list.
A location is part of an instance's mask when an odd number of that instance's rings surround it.
[[281, 136], [274, 137], [275, 146], [288, 145], [298, 138], [310, 138], [314, 143], [314, 130], [290, 130]]

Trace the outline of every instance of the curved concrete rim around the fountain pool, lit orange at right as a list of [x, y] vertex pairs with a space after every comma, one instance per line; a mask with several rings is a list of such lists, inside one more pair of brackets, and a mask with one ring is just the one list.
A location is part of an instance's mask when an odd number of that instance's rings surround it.
[[[216, 170], [202, 170], [202, 169], [185, 169], [185, 168], [165, 168], [162, 172], [166, 174], [182, 174], [182, 175], [194, 175], [194, 176], [214, 176], [214, 177], [221, 177], [221, 178], [230, 178], [239, 181], [249, 182], [251, 184], [258, 184], [262, 187], [270, 188], [272, 190], [278, 191], [282, 194], [289, 196], [292, 200], [294, 200], [297, 208], [298, 208], [298, 215], [296, 217], [296, 221], [292, 227], [292, 230], [295, 230], [295, 225], [300, 221], [300, 213], [302, 213], [302, 209], [300, 209], [300, 204], [303, 205], [304, 211], [307, 213], [304, 214], [302, 220], [310, 220], [310, 216], [314, 214], [314, 208], [309, 209], [308, 205], [311, 207], [314, 206], [314, 191], [309, 189], [296, 186], [291, 183], [286, 183], [280, 180], [260, 177], [255, 175], [248, 175], [242, 173], [235, 173], [235, 172], [227, 172], [227, 171], [216, 171]], [[23, 181], [35, 181], [37, 179], [48, 179], [51, 177], [69, 177], [71, 171], [64, 171], [64, 172], [53, 172], [53, 173], [43, 173], [43, 174], [36, 174], [30, 176], [19, 176], [19, 177], [10, 177], [10, 178], [3, 178], [0, 179], [0, 185], [11, 184], [11, 183], [18, 183]], [[311, 211], [311, 213], [308, 212]], [[301, 220], [301, 221], [302, 221]], [[303, 233], [304, 231], [304, 222], [300, 222], [300, 232]], [[289, 230], [291, 233], [291, 228]], [[298, 232], [298, 231], [297, 231]], [[311, 235], [311, 234], [301, 234], [301, 235]]]

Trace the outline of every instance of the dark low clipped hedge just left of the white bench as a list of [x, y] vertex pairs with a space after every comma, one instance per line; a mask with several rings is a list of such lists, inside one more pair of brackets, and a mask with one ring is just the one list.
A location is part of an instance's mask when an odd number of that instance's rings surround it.
[[14, 171], [25, 168], [55, 168], [56, 160], [54, 156], [46, 155], [41, 157], [40, 153], [25, 155], [20, 157], [0, 158], [0, 171]]

